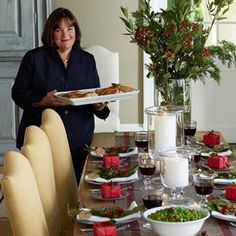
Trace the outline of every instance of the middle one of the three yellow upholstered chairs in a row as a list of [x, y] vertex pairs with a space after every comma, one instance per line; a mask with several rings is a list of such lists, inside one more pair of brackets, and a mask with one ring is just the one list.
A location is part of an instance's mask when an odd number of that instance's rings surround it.
[[54, 176], [51, 146], [45, 132], [37, 126], [26, 128], [22, 154], [29, 160], [51, 236], [61, 234], [61, 219]]

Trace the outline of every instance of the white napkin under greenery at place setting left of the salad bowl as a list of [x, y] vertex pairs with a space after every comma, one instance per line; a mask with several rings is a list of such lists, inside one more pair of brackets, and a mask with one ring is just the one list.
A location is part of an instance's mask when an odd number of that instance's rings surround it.
[[[135, 208], [137, 206], [136, 202], [133, 201], [128, 210], [132, 210], [133, 208]], [[87, 209], [87, 208], [82, 208], [82, 210], [87, 210], [87, 211], [90, 211], [90, 209]], [[139, 212], [136, 212], [136, 213], [133, 213], [131, 215], [127, 215], [127, 216], [124, 216], [124, 217], [120, 217], [120, 218], [114, 218], [112, 220], [115, 220], [116, 222], [126, 222], [126, 221], [129, 221], [131, 219], [136, 219], [136, 218], [140, 218], [141, 217], [141, 214], [140, 214], [140, 211]], [[79, 214], [76, 216], [76, 219], [78, 221], [83, 221], [82, 219], [80, 219], [79, 217]], [[86, 221], [88, 222], [91, 222], [91, 223], [96, 223], [96, 222], [103, 222], [103, 221], [110, 221], [110, 218], [108, 217], [100, 217], [100, 216], [91, 216], [89, 217]]]

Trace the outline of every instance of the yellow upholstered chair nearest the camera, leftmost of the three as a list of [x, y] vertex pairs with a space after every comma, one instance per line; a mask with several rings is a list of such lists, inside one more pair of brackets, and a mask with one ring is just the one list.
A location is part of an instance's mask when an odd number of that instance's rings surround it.
[[13, 234], [49, 236], [30, 163], [16, 151], [5, 153], [4, 160], [4, 178], [1, 182]]

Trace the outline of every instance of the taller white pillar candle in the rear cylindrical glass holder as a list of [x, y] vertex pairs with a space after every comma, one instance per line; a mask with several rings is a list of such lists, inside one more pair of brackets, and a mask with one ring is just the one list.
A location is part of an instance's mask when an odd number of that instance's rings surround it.
[[163, 113], [155, 117], [155, 152], [176, 147], [176, 116]]

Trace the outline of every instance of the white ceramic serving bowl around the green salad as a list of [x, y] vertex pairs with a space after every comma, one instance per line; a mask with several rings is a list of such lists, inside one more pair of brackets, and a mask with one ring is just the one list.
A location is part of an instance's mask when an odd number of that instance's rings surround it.
[[200, 229], [202, 228], [205, 220], [210, 216], [209, 211], [203, 208], [196, 208], [190, 206], [181, 206], [185, 208], [191, 208], [199, 211], [205, 212], [205, 217], [195, 221], [187, 221], [187, 222], [164, 222], [164, 221], [157, 221], [151, 220], [148, 216], [151, 213], [159, 211], [161, 209], [170, 208], [170, 207], [179, 207], [179, 206], [163, 206], [163, 207], [155, 207], [144, 212], [144, 218], [148, 221], [151, 225], [153, 230], [159, 236], [176, 236], [176, 235], [184, 235], [184, 236], [194, 236], [196, 235]]

